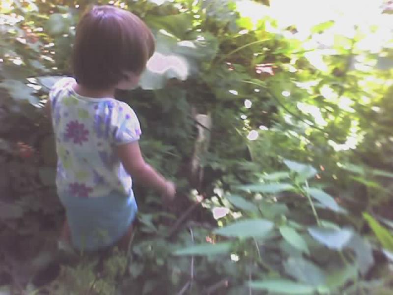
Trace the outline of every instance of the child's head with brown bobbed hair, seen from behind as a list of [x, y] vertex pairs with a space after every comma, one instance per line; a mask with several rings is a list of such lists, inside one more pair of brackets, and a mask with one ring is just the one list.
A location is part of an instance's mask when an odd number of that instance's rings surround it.
[[77, 27], [75, 78], [90, 89], [132, 88], [154, 50], [153, 34], [136, 15], [114, 6], [94, 6]]

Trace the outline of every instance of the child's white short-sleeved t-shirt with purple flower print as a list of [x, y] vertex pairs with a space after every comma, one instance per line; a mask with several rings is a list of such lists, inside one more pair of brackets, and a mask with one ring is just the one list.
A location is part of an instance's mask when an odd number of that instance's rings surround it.
[[138, 118], [124, 102], [77, 94], [75, 83], [63, 78], [49, 95], [58, 155], [57, 191], [79, 198], [112, 191], [129, 196], [132, 179], [115, 146], [140, 139]]

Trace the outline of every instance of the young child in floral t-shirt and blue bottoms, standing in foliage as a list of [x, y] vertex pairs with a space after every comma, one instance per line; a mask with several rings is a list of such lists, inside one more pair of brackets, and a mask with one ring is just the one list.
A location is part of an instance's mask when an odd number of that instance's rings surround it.
[[129, 236], [137, 213], [132, 177], [164, 201], [173, 200], [175, 186], [144, 162], [138, 118], [114, 99], [115, 89], [137, 86], [155, 50], [151, 31], [128, 11], [94, 6], [78, 24], [73, 50], [75, 79], [61, 79], [49, 95], [56, 186], [64, 235], [76, 249], [100, 250]]

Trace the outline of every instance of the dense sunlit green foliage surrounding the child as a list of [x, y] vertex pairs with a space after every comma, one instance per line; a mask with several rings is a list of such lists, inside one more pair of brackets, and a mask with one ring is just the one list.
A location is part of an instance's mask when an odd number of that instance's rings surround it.
[[[43, 236], [56, 238], [44, 225], [61, 222], [43, 105], [57, 79], [71, 74], [75, 26], [92, 2], [1, 3], [0, 236], [9, 242], [0, 278], [12, 277], [4, 284], [111, 295], [392, 288], [393, 53], [382, 22], [392, 15], [370, 10], [374, 18], [362, 22], [323, 14], [301, 23], [280, 12], [307, 9], [270, 2], [114, 2], [156, 36], [140, 88], [116, 95], [140, 118], [146, 160], [176, 179], [181, 197], [169, 213], [137, 183], [139, 225], [127, 255], [82, 257], [42, 284], [33, 279], [39, 271], [23, 265], [45, 251]], [[189, 177], [195, 114], [213, 122], [199, 183]], [[200, 210], [174, 230], [200, 196]]]

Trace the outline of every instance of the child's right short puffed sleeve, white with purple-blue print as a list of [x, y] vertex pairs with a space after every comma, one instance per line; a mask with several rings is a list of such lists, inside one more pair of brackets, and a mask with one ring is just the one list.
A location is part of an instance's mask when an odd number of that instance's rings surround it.
[[116, 115], [112, 122], [114, 127], [114, 144], [128, 144], [140, 139], [140, 123], [134, 110], [126, 103], [116, 107]]

